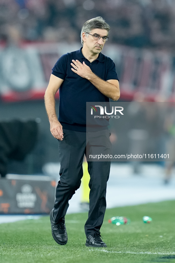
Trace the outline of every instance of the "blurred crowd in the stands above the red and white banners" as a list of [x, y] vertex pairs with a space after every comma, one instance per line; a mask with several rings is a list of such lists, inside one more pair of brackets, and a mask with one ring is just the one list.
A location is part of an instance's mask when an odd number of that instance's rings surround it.
[[111, 26], [111, 43], [174, 47], [174, 0], [0, 0], [0, 40], [80, 41], [84, 22], [97, 16]]

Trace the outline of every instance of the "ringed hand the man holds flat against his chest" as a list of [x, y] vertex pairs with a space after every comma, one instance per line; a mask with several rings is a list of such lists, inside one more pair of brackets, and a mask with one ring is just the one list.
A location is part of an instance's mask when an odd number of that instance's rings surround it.
[[93, 74], [92, 70], [86, 63], [83, 61], [83, 64], [79, 60], [72, 60], [73, 63], [70, 63], [73, 68], [71, 70], [81, 76], [82, 78], [89, 79], [90, 76]]

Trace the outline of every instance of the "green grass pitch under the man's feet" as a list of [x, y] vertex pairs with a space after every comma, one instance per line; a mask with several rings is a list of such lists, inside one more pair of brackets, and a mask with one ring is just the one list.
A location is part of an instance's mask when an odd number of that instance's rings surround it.
[[[129, 225], [108, 223], [126, 216]], [[150, 224], [143, 216], [152, 217]], [[68, 243], [58, 245], [51, 234], [49, 216], [0, 224], [1, 263], [151, 263], [175, 262], [175, 201], [107, 209], [101, 235], [107, 248], [85, 246], [87, 213], [66, 215]]]

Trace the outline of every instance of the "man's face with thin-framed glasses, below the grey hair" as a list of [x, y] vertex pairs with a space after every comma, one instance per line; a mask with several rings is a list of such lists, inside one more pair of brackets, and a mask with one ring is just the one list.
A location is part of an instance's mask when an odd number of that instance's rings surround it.
[[[107, 30], [96, 28], [93, 29], [89, 34], [107, 36]], [[84, 44], [87, 46], [91, 53], [99, 54], [102, 51], [105, 42], [102, 40], [102, 38], [100, 38], [99, 40], [94, 40], [94, 37], [91, 35], [85, 36], [86, 42], [84, 41]]]

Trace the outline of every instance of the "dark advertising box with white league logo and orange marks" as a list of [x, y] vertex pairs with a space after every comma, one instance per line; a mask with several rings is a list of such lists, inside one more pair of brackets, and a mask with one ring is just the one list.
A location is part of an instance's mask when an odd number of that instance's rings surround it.
[[55, 200], [54, 179], [8, 175], [0, 179], [0, 214], [48, 214]]

